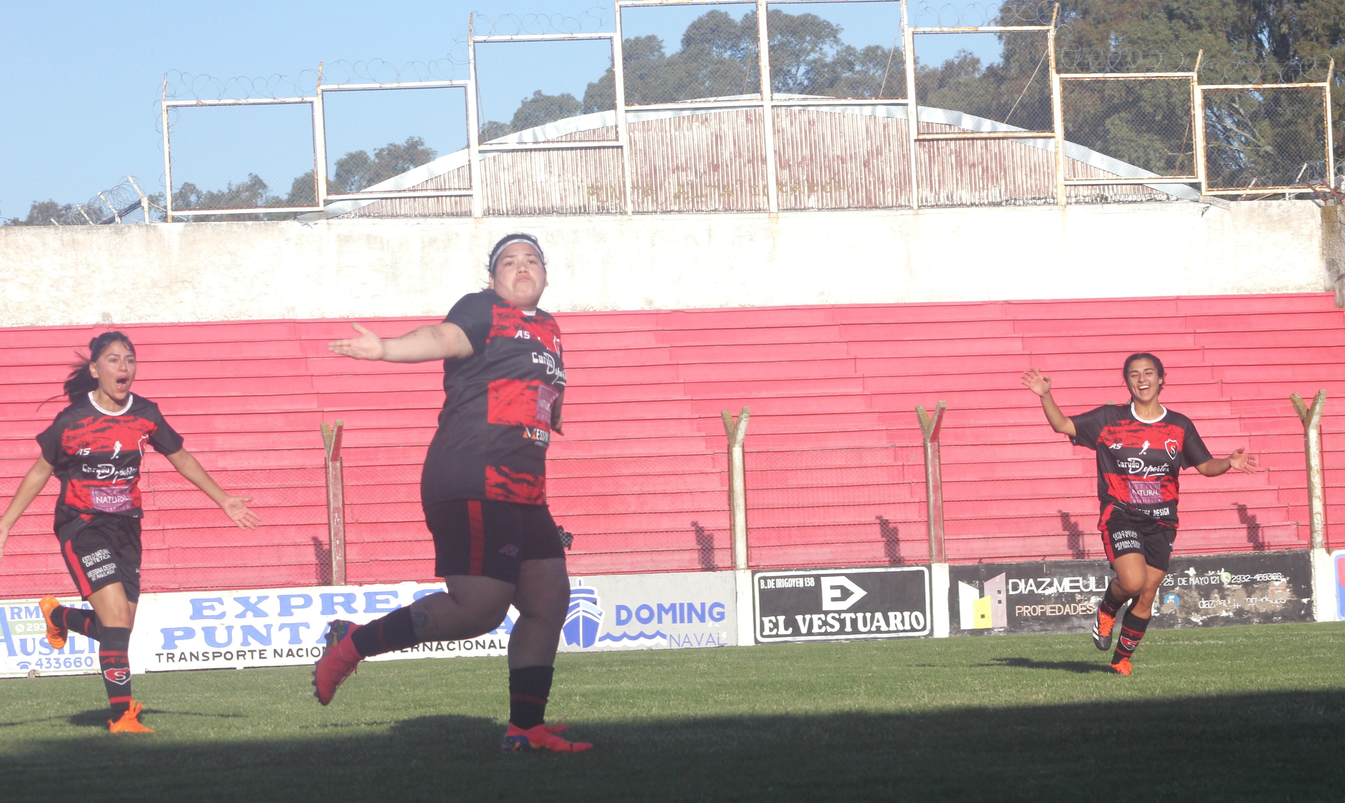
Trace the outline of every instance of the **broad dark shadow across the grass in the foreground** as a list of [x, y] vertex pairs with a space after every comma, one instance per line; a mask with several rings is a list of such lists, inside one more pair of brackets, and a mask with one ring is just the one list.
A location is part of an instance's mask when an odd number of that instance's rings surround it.
[[[1013, 660], [1013, 659], [1009, 659]], [[1040, 662], [1048, 667], [1050, 662]], [[995, 666], [1006, 666], [999, 663]], [[1014, 666], [1014, 664], [1007, 664]], [[1119, 678], [1119, 683], [1128, 679]], [[1345, 690], [912, 712], [638, 716], [576, 724], [580, 756], [500, 756], [488, 717], [421, 714], [346, 732], [288, 733], [258, 716], [223, 728], [168, 717], [156, 737], [30, 738], [0, 752], [4, 799], [1056, 800], [1079, 799], [1146, 745], [1135, 799], [1337, 799]], [[105, 714], [100, 714], [105, 716]], [[325, 714], [324, 716], [330, 716]], [[176, 732], [176, 733], [175, 733]]]

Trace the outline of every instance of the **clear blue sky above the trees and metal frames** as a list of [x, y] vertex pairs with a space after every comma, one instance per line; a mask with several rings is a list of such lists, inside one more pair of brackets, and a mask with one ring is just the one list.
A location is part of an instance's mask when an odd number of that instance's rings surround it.
[[[740, 16], [751, 5], [724, 9]], [[0, 22], [0, 70], [8, 75], [0, 87], [0, 217], [22, 218], [34, 200], [82, 203], [125, 174], [145, 192], [160, 192], [164, 168], [157, 121], [165, 74], [303, 79], [320, 61], [373, 59], [398, 66], [433, 63], [432, 70], [444, 74], [464, 52], [459, 43], [472, 11], [502, 27], [514, 24], [508, 15], [546, 15], [562, 26], [612, 30], [611, 5], [592, 0], [11, 4]], [[686, 23], [705, 11], [703, 5], [628, 11], [625, 34], [656, 34], [671, 52]], [[857, 46], [889, 46], [896, 34], [894, 4], [810, 4], [790, 11], [827, 16]], [[991, 38], [929, 39], [928, 47], [917, 47], [923, 62], [942, 61], [958, 47], [974, 48], [983, 58], [995, 55]], [[586, 83], [608, 63], [596, 43], [495, 48], [480, 54], [482, 105], [490, 120], [508, 120], [518, 101], [538, 89], [582, 97]], [[465, 77], [464, 69], [457, 70], [457, 77]], [[440, 155], [465, 143], [463, 98], [456, 90], [327, 97], [334, 159], [409, 135], [425, 137]], [[284, 195], [296, 176], [312, 169], [309, 120], [307, 106], [184, 110], [172, 129], [174, 184], [191, 180], [214, 190], [257, 172]]]

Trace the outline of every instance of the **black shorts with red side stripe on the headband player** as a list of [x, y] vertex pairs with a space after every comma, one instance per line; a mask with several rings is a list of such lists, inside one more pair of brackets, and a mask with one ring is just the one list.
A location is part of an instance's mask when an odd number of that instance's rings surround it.
[[564, 558], [565, 546], [545, 504], [449, 499], [425, 506], [434, 535], [434, 574], [479, 574], [518, 582], [523, 561]]

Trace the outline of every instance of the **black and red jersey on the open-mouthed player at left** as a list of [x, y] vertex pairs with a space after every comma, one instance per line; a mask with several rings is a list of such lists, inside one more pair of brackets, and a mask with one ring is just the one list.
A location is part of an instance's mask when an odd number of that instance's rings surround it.
[[79, 397], [38, 436], [42, 459], [61, 480], [56, 527], [77, 515], [140, 518], [140, 461], [145, 444], [163, 455], [182, 449], [182, 436], [159, 405], [130, 395], [124, 409], [104, 410], [93, 394]]

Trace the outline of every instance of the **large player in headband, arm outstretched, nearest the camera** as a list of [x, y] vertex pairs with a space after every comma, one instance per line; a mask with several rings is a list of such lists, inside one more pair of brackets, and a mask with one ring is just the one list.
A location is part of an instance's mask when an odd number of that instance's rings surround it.
[[508, 642], [510, 724], [504, 752], [586, 751], [543, 724], [555, 647], [570, 600], [565, 549], [546, 507], [546, 447], [561, 432], [561, 330], [537, 308], [546, 288], [542, 246], [527, 234], [495, 243], [490, 288], [463, 296], [444, 323], [331, 350], [356, 359], [444, 360], [444, 409], [421, 475], [434, 573], [430, 595], [364, 625], [332, 621], [313, 670], [319, 702], [360, 659], [422, 642], [469, 639], [519, 619]]

